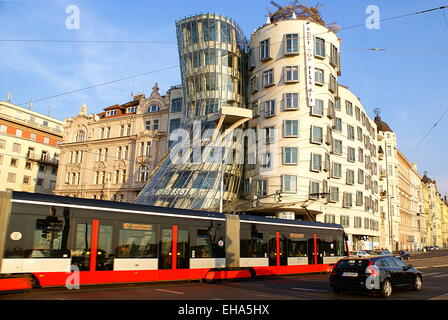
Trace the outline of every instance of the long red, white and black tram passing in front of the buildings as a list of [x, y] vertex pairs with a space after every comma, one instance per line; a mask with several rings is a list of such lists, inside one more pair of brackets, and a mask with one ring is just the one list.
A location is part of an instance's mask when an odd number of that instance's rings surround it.
[[0, 290], [328, 271], [342, 226], [0, 192]]

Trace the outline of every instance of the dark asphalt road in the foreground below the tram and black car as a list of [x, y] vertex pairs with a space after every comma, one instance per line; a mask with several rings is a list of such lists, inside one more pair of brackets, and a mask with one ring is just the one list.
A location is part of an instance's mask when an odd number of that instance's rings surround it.
[[[423, 290], [395, 290], [390, 300], [448, 300], [448, 250], [413, 255], [408, 262], [423, 273]], [[175, 282], [33, 289], [0, 295], [0, 300], [378, 300], [375, 295], [336, 295], [328, 274], [257, 278], [219, 283]]]

